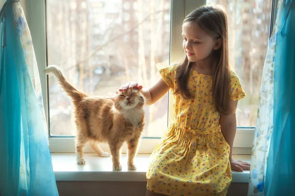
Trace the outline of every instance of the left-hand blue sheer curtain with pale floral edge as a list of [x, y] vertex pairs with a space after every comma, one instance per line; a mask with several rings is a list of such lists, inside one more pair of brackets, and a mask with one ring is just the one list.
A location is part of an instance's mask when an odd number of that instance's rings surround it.
[[0, 195], [58, 196], [29, 27], [17, 0], [0, 16]]

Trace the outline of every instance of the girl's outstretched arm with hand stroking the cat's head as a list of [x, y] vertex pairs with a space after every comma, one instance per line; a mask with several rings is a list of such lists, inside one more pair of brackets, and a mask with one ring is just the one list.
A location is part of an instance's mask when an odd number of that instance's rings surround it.
[[121, 86], [119, 91], [126, 91], [127, 89], [132, 88], [137, 88], [138, 90], [141, 90], [142, 94], [146, 97], [146, 105], [154, 104], [157, 100], [162, 98], [170, 89], [163, 78], [160, 77], [158, 81], [148, 89], [143, 88], [143, 86], [139, 85], [137, 82], [129, 82], [124, 86]]

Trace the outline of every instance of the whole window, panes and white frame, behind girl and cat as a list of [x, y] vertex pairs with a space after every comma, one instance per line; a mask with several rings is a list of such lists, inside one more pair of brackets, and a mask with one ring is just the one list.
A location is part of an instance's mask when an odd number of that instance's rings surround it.
[[[127, 81], [137, 80], [149, 86], [158, 79], [158, 68], [167, 66], [169, 62], [177, 62], [183, 55], [179, 26], [184, 17], [206, 2], [164, 1], [155, 0], [152, 10], [144, 9], [147, 4], [149, 7], [149, 0], [112, 0], [116, 4], [115, 8], [108, 0], [84, 0], [86, 5], [83, 5], [83, 9], [82, 0], [46, 0], [47, 32], [45, 0], [34, 4], [28, 1], [31, 35], [33, 42], [34, 39], [38, 40], [34, 42], [34, 48], [44, 103], [47, 104], [46, 76], [43, 73], [46, 59], [48, 65], [59, 66], [75, 87], [90, 95], [111, 96]], [[133, 9], [122, 9], [124, 2], [130, 3]], [[262, 0], [207, 0], [207, 4], [222, 4], [228, 9], [231, 64], [247, 93], [247, 97], [239, 101], [238, 105], [239, 127], [233, 153], [249, 154], [268, 43], [271, 3]], [[122, 21], [120, 16], [124, 14], [129, 14], [128, 21]], [[154, 14], [153, 17], [150, 17], [151, 14]], [[141, 22], [142, 25], [139, 25]], [[124, 29], [125, 26], [129, 28]], [[144, 29], [152, 29], [149, 28], [151, 26], [154, 26], [154, 30], [147, 33]], [[152, 39], [154, 34], [160, 34], [157, 39], [161, 40]], [[160, 48], [163, 53], [159, 55], [160, 52], [154, 48]], [[151, 67], [150, 54], [153, 50], [156, 51], [154, 55], [157, 61], [153, 69], [148, 69]], [[48, 96], [51, 151], [74, 152], [73, 137], [76, 131], [73, 107], [52, 76], [48, 78]], [[159, 137], [172, 120], [172, 101], [173, 97], [166, 95], [154, 106], [146, 108], [147, 127], [139, 153], [150, 153], [158, 144]], [[85, 151], [91, 150], [86, 147]]]

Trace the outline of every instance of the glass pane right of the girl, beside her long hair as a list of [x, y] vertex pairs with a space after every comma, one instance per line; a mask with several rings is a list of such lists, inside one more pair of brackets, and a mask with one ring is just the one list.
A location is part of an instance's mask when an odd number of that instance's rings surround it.
[[247, 94], [238, 104], [237, 126], [255, 126], [269, 38], [271, 0], [207, 0], [207, 5], [215, 4], [227, 8], [231, 65]]

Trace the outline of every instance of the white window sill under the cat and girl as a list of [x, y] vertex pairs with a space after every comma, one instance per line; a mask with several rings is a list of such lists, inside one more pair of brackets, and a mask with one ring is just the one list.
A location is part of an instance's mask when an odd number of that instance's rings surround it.
[[[53, 171], [57, 181], [146, 181], [149, 154], [138, 154], [134, 163], [136, 171], [128, 171], [126, 154], [121, 156], [121, 171], [113, 171], [111, 157], [98, 157], [93, 153], [85, 153], [85, 165], [76, 163], [75, 153], [51, 153]], [[233, 155], [235, 160], [250, 163], [251, 155]], [[232, 172], [236, 183], [248, 183], [249, 171]]]

